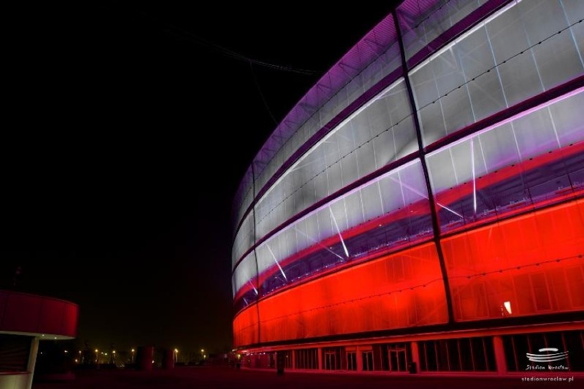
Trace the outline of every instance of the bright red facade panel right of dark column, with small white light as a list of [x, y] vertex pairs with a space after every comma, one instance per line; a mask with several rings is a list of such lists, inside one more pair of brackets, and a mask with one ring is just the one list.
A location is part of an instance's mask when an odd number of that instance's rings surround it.
[[584, 309], [584, 202], [442, 240], [457, 321]]

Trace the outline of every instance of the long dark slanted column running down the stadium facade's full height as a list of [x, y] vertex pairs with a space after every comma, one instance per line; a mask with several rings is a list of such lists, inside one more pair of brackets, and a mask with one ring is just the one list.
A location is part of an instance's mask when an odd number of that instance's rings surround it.
[[400, 45], [400, 54], [402, 56], [402, 68], [404, 70], [404, 81], [406, 82], [406, 89], [408, 90], [408, 97], [410, 106], [412, 108], [412, 116], [415, 126], [415, 132], [417, 135], [417, 145], [419, 149], [419, 160], [422, 162], [422, 170], [424, 171], [424, 179], [426, 181], [426, 189], [428, 190], [428, 202], [430, 203], [430, 216], [432, 216], [432, 228], [434, 230], [434, 244], [438, 254], [438, 260], [440, 262], [440, 271], [442, 273], [442, 281], [444, 284], [444, 290], [446, 294], [446, 310], [448, 311], [448, 323], [454, 323], [454, 311], [452, 310], [452, 297], [450, 295], [450, 283], [448, 282], [448, 274], [446, 273], [446, 262], [444, 262], [444, 255], [442, 253], [442, 246], [440, 244], [440, 225], [438, 222], [438, 211], [436, 209], [436, 203], [434, 201], [434, 194], [432, 192], [432, 187], [430, 186], [430, 175], [428, 174], [428, 166], [426, 165], [426, 151], [424, 150], [424, 142], [422, 142], [422, 130], [420, 129], [419, 119], [417, 117], [417, 109], [415, 105], [415, 99], [413, 97], [413, 90], [410, 84], [410, 78], [408, 76], [408, 63], [406, 60], [406, 52], [404, 49], [404, 41], [402, 37], [402, 31], [400, 29], [400, 23], [398, 23], [398, 12], [396, 8], [391, 11], [393, 15], [393, 23], [396, 25], [396, 32], [398, 34], [398, 43]]

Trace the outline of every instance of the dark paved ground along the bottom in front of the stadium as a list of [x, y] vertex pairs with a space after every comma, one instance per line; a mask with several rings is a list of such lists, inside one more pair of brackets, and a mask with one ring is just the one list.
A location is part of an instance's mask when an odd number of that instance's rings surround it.
[[[526, 375], [531, 376], [531, 375]], [[293, 373], [232, 368], [181, 367], [173, 371], [82, 371], [72, 381], [36, 383], [33, 389], [326, 389], [326, 388], [583, 388], [584, 377], [564, 382], [523, 382], [516, 377], [443, 377], [357, 373]], [[566, 376], [568, 377], [568, 376]]]

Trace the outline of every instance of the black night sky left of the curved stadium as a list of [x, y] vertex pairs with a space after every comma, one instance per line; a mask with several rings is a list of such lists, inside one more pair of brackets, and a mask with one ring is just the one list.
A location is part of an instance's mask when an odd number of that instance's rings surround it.
[[276, 126], [254, 77], [280, 121], [391, 2], [83, 3], [7, 14], [0, 287], [78, 303], [92, 348], [228, 349], [232, 198]]

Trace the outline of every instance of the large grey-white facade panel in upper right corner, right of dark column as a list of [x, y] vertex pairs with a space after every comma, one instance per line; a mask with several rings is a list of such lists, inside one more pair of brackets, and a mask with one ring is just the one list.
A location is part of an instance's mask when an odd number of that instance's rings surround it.
[[559, 0], [513, 1], [419, 64], [424, 145], [582, 75], [579, 25]]

